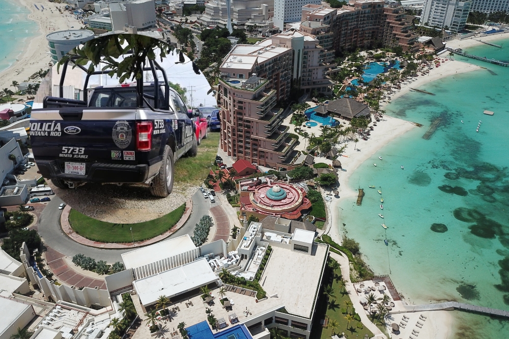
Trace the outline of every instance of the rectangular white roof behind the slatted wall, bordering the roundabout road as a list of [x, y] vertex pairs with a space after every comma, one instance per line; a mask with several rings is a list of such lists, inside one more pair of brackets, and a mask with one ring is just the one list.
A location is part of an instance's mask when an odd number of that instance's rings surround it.
[[166, 259], [194, 250], [196, 246], [188, 234], [173, 239], [157, 242], [153, 245], [123, 253], [122, 260], [126, 268], [136, 268], [162, 259]]

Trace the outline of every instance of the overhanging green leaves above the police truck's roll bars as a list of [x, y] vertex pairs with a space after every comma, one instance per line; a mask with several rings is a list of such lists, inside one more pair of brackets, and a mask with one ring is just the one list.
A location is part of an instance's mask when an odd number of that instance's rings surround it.
[[[110, 77], [117, 76], [119, 82], [126, 79], [141, 79], [147, 58], [155, 60], [155, 50], [160, 51], [161, 61], [173, 48], [167, 43], [138, 34], [113, 34], [89, 40], [75, 47], [60, 59], [57, 70], [70, 58], [75, 58], [77, 65], [86, 66], [93, 72], [96, 66], [105, 65], [103, 70], [110, 70]], [[128, 51], [131, 54], [128, 54]], [[120, 56], [124, 56], [119, 60]], [[73, 68], [75, 65], [73, 65]]]

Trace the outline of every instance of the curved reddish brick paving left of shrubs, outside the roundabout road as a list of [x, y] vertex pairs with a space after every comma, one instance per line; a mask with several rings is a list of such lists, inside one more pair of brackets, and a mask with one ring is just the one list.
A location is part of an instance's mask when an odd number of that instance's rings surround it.
[[76, 288], [95, 288], [97, 286], [100, 290], [106, 289], [104, 279], [94, 279], [70, 268], [64, 260], [65, 256], [62, 253], [48, 248], [45, 252], [45, 256], [47, 265], [53, 272], [55, 278], [60, 282], [69, 286], [75, 286]]

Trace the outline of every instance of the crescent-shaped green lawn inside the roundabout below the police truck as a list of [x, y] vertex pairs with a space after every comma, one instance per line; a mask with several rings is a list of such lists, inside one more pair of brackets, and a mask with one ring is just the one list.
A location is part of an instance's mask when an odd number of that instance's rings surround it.
[[[112, 224], [87, 217], [71, 209], [69, 224], [79, 235], [99, 242], [132, 242], [151, 239], [172, 228], [184, 214], [186, 205], [160, 218], [136, 224]], [[132, 228], [132, 236], [131, 236]]]

